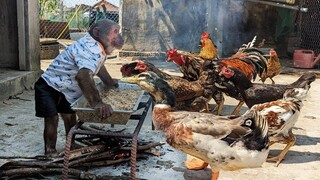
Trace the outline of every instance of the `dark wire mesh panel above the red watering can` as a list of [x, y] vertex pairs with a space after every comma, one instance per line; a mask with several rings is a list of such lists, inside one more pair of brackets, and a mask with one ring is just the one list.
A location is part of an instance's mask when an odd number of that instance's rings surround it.
[[320, 53], [320, 1], [306, 0], [308, 8], [301, 18], [301, 47]]

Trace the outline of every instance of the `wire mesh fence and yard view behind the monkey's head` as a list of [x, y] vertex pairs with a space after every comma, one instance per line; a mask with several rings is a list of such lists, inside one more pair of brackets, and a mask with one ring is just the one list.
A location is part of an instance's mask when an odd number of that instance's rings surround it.
[[40, 37], [77, 40], [100, 19], [118, 23], [120, 0], [109, 1], [39, 0]]

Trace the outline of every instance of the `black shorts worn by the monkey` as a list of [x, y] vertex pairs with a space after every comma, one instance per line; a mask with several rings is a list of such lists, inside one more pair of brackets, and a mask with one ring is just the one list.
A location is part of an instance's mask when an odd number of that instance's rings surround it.
[[51, 117], [58, 113], [75, 113], [65, 96], [40, 77], [34, 85], [36, 116]]

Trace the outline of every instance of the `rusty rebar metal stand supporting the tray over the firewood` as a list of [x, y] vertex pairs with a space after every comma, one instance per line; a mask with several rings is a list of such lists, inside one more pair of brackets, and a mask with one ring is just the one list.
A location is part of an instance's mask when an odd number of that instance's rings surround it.
[[[136, 162], [137, 162], [137, 144], [138, 144], [138, 134], [141, 130], [141, 127], [143, 125], [143, 122], [145, 120], [145, 117], [147, 116], [147, 113], [149, 111], [149, 108], [152, 107], [152, 99], [149, 95], [145, 95], [148, 97], [147, 102], [140, 102], [138, 109], [144, 108], [143, 112], [141, 114], [133, 114], [130, 116], [131, 120], [138, 120], [138, 124], [136, 125], [136, 128], [133, 133], [121, 133], [121, 132], [101, 132], [101, 131], [93, 131], [86, 129], [82, 126], [84, 122], [79, 122], [74, 127], [71, 128], [69, 131], [67, 141], [66, 141], [66, 147], [64, 152], [64, 162], [63, 162], [63, 174], [62, 179], [67, 180], [68, 179], [68, 168], [69, 168], [69, 158], [70, 158], [70, 148], [73, 142], [73, 139], [75, 138], [76, 134], [80, 135], [95, 135], [95, 136], [117, 136], [117, 137], [124, 137], [124, 138], [132, 138], [132, 147], [131, 147], [131, 160], [130, 160], [130, 179], [134, 180], [136, 179]], [[153, 124], [152, 124], [153, 125]]]

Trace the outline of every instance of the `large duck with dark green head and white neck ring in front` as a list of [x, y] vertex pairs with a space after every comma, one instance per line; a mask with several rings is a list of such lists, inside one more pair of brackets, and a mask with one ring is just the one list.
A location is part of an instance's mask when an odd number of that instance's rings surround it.
[[152, 120], [172, 147], [207, 162], [211, 179], [219, 170], [260, 167], [269, 153], [268, 124], [252, 111], [246, 116], [173, 111], [173, 89], [155, 73], [147, 71], [134, 80], [154, 99]]

